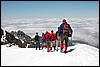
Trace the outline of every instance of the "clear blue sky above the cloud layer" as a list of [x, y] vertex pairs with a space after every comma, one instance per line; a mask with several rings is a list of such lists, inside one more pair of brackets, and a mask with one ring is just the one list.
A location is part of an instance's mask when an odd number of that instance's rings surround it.
[[1, 18], [98, 17], [99, 1], [1, 1]]

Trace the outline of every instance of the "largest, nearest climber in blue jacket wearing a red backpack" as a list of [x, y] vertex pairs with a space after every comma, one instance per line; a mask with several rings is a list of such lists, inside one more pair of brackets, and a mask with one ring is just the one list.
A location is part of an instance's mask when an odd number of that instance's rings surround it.
[[61, 42], [65, 42], [64, 43], [65, 53], [67, 53], [68, 37], [72, 36], [72, 32], [73, 31], [71, 29], [71, 26], [66, 22], [65, 19], [63, 19], [62, 24], [59, 26], [59, 29], [58, 29], [58, 39], [61, 40]]

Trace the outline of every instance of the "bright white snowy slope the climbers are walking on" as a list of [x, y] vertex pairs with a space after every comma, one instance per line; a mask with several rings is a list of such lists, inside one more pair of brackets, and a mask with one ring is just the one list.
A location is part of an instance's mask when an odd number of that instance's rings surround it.
[[64, 54], [47, 49], [1, 46], [1, 66], [99, 66], [99, 49], [86, 44], [69, 46]]

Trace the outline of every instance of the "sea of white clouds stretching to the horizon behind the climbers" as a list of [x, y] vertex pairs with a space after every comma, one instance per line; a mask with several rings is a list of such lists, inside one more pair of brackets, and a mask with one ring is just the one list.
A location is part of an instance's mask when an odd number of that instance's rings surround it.
[[[63, 18], [1, 19], [1, 28], [7, 31], [24, 31], [32, 38], [38, 32], [41, 36], [46, 31], [54, 30]], [[73, 29], [73, 42], [86, 43], [99, 48], [99, 17], [65, 18]]]

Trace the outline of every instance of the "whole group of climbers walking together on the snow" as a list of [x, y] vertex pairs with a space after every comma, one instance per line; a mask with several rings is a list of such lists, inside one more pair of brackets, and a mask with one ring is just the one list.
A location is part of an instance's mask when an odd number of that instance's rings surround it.
[[[58, 30], [55, 33], [53, 30], [51, 30], [51, 33], [48, 31], [42, 33], [42, 49], [47, 48], [47, 52], [52, 50], [58, 51], [58, 46], [60, 46], [60, 51], [62, 52], [64, 50], [64, 53], [67, 53], [68, 37], [72, 36], [72, 32], [71, 26], [65, 19], [63, 19], [62, 24], [58, 27]], [[36, 34], [35, 41], [40, 49], [39, 35], [38, 33]]]

